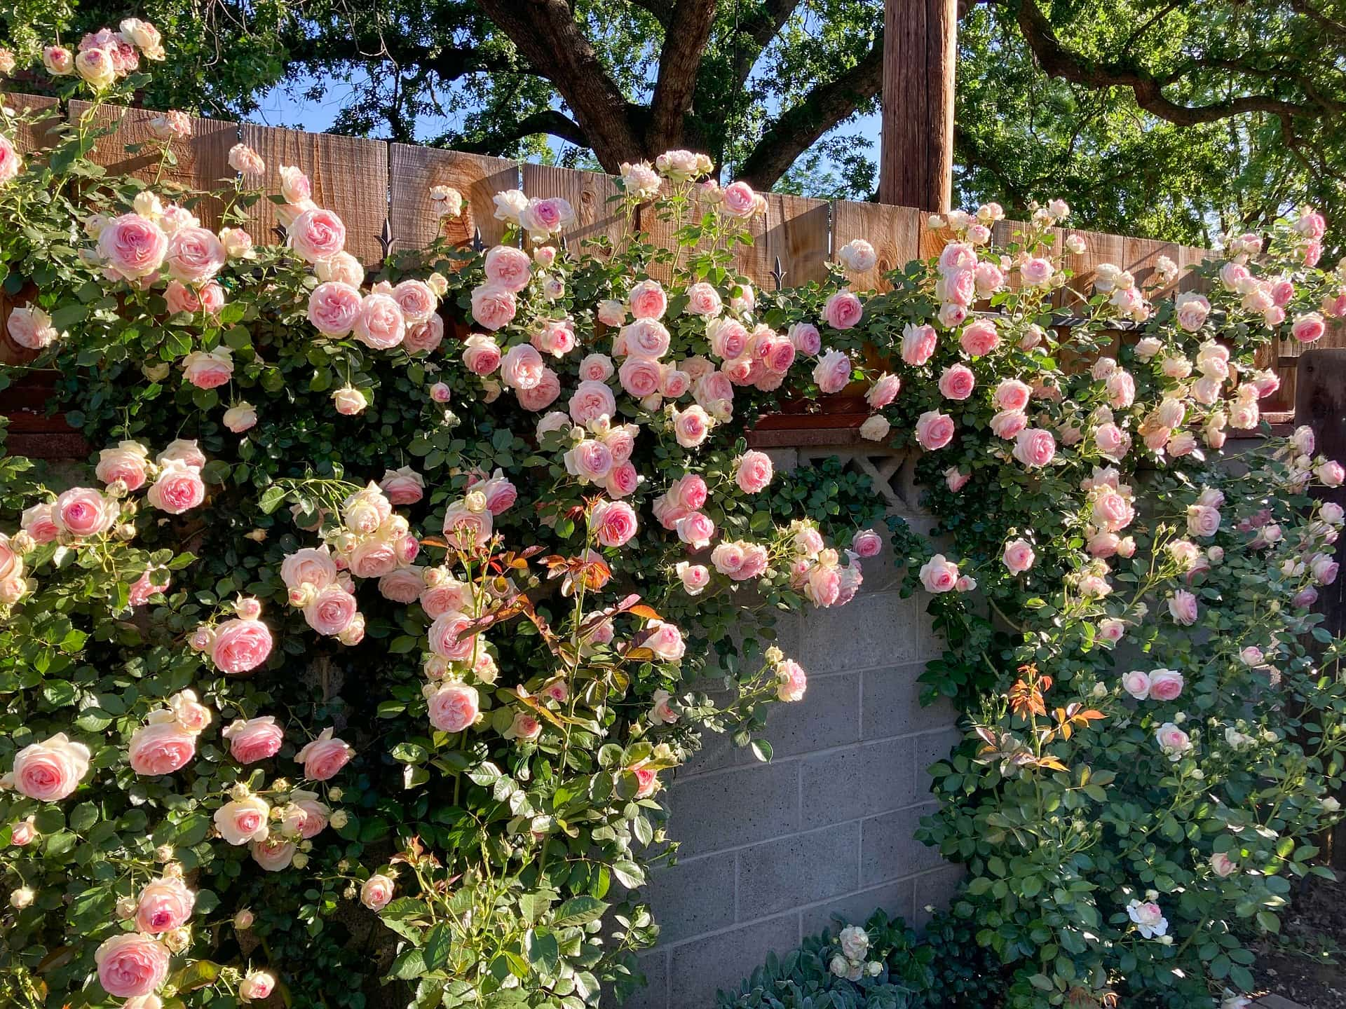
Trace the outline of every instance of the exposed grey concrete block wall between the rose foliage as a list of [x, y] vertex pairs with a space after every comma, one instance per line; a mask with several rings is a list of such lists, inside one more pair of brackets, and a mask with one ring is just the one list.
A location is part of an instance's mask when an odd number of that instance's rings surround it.
[[960, 870], [914, 838], [934, 809], [925, 770], [958, 739], [952, 708], [918, 701], [917, 677], [942, 644], [927, 599], [898, 593], [891, 557], [865, 572], [849, 605], [781, 624], [809, 687], [773, 709], [771, 763], [712, 736], [672, 782], [681, 848], [651, 880], [661, 939], [642, 957], [649, 987], [627, 1005], [709, 1009], [716, 989], [833, 913], [863, 920], [883, 907], [919, 927], [957, 885]]

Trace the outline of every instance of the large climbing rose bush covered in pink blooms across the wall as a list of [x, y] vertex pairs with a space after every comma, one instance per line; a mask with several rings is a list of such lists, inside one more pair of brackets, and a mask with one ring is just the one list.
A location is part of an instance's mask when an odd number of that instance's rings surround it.
[[[767, 705], [808, 686], [771, 615], [845, 604], [880, 552], [863, 480], [744, 437], [853, 381], [940, 518], [938, 545], [891, 523], [949, 642], [929, 693], [973, 722], [925, 835], [968, 862], [956, 913], [1012, 1004], [1250, 983], [1238, 923], [1275, 927], [1337, 813], [1339, 646], [1308, 607], [1342, 514], [1307, 491], [1342, 470], [1303, 432], [1217, 463], [1275, 389], [1253, 351], [1346, 313], [1316, 214], [1232, 239], [1207, 295], [1163, 260], [1070, 287], [1059, 202], [1004, 248], [993, 204], [935, 222], [886, 293], [851, 289], [863, 244], [758, 292], [732, 250], [763, 200], [677, 151], [623, 172], [673, 248], [568, 250], [564, 200], [507, 191], [501, 246], [366, 276], [293, 167], [238, 145], [214, 203], [163, 182], [182, 117], [152, 182], [105, 175], [96, 109], [157, 42], [78, 48], [46, 65], [92, 108], [0, 129], [9, 334], [100, 449], [59, 492], [0, 470], [8, 1001], [627, 986], [669, 774], [704, 731], [770, 757]], [[281, 246], [246, 230], [271, 190]]]

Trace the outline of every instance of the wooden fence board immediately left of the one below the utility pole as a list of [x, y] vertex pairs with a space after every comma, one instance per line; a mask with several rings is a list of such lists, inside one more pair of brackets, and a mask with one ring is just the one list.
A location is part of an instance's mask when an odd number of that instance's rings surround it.
[[832, 206], [824, 199], [766, 194], [766, 214], [752, 219], [752, 245], [734, 250], [738, 269], [759, 291], [774, 291], [771, 270], [779, 257], [781, 287], [804, 287], [828, 274]]

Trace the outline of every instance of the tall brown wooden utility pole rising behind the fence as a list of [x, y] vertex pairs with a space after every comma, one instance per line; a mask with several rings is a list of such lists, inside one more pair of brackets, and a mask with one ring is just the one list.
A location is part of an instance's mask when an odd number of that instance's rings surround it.
[[887, 0], [879, 199], [942, 214], [953, 191], [958, 0]]

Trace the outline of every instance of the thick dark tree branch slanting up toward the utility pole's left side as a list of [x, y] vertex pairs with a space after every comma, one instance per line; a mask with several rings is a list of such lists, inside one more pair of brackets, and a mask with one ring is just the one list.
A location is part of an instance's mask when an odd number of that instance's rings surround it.
[[818, 137], [882, 87], [883, 32], [879, 31], [859, 63], [836, 79], [817, 85], [801, 102], [781, 113], [739, 165], [739, 178], [755, 190], [771, 188]]

